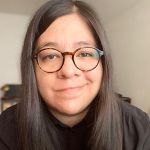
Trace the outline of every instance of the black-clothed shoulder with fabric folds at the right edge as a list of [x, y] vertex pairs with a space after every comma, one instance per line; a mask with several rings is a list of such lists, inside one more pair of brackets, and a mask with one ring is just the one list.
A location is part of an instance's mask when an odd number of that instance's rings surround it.
[[124, 149], [148, 150], [150, 147], [150, 119], [141, 109], [122, 102]]

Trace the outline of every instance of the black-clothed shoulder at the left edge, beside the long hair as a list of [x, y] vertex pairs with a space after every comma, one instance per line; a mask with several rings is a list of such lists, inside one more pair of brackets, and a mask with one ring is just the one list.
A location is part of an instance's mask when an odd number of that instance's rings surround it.
[[17, 143], [17, 117], [16, 108], [12, 106], [0, 115], [0, 145], [16, 147]]

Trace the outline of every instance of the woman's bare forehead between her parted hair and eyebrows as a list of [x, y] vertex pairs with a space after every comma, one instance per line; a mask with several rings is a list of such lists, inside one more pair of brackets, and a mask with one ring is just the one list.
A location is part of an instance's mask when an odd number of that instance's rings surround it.
[[85, 19], [77, 13], [56, 19], [38, 38], [37, 47], [53, 43], [53, 46], [95, 45], [95, 39]]

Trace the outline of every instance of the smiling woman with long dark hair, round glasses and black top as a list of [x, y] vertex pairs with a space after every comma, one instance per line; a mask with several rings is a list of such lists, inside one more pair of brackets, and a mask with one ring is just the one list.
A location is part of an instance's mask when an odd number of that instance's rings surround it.
[[44, 4], [24, 41], [22, 101], [0, 118], [0, 149], [150, 149], [147, 115], [114, 94], [109, 53], [87, 4]]

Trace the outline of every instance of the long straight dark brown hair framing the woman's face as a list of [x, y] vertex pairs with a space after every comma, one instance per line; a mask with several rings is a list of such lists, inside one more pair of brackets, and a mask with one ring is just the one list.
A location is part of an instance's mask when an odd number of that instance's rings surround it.
[[[110, 50], [104, 30], [95, 12], [84, 2], [51, 0], [44, 4], [31, 20], [21, 57], [22, 101], [18, 105], [18, 138], [21, 150], [61, 150], [57, 132], [48, 122], [48, 111], [38, 92], [32, 55], [38, 37], [58, 17], [78, 13], [89, 25], [102, 58], [101, 88], [91, 105], [93, 125], [89, 138], [92, 150], [121, 150], [122, 121], [119, 101], [112, 87]], [[50, 128], [48, 126], [51, 126]]]

